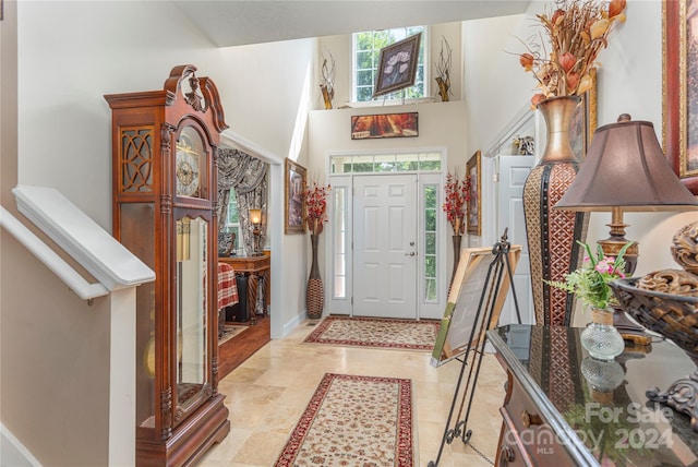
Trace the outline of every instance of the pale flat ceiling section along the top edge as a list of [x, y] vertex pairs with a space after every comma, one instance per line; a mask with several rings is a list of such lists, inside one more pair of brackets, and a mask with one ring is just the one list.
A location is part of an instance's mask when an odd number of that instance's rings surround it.
[[526, 12], [529, 0], [174, 0], [218, 47], [322, 37]]

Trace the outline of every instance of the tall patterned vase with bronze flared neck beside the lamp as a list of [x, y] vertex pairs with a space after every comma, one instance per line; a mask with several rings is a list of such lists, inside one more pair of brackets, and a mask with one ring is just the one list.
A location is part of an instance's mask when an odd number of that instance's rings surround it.
[[578, 96], [551, 97], [538, 105], [545, 119], [547, 144], [524, 184], [524, 218], [531, 266], [533, 309], [538, 324], [568, 326], [574, 297], [544, 280], [564, 282], [581, 260], [577, 240], [585, 241], [589, 213], [554, 209], [581, 163], [569, 143], [569, 123]]

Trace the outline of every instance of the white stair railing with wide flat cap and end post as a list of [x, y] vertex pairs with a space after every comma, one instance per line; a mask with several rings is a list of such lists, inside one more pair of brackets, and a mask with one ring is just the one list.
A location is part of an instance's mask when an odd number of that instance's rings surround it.
[[[87, 282], [49, 246], [0, 206], [0, 227], [88, 303], [107, 297], [110, 310], [109, 465], [135, 464], [135, 287], [155, 280], [155, 272], [119, 243], [60, 192], [43, 187], [12, 190], [17, 209], [51, 238], [97, 283]], [[12, 436], [2, 430], [2, 442]], [[15, 443], [16, 452], [26, 450]], [[28, 453], [31, 456], [31, 453]], [[34, 465], [25, 456], [26, 465]]]

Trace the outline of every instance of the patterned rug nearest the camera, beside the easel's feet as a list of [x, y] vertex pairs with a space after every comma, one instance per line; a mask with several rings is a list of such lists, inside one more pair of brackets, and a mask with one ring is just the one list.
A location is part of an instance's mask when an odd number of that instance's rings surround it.
[[276, 467], [412, 467], [412, 385], [326, 373]]

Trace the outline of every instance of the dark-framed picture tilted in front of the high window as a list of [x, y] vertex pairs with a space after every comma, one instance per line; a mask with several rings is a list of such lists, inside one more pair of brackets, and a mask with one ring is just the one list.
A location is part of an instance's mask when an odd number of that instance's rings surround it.
[[372, 97], [390, 94], [414, 84], [421, 40], [422, 33], [419, 33], [381, 49], [378, 79], [373, 87]]

